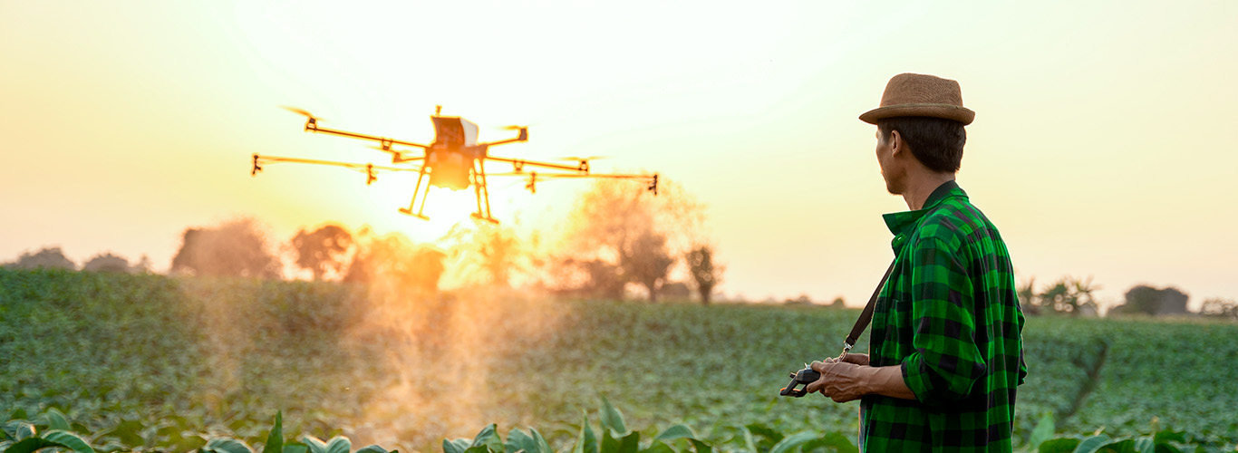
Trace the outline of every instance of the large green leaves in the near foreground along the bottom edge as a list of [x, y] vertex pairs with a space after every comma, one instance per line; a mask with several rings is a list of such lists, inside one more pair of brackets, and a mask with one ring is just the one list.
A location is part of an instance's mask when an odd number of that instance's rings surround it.
[[[276, 413], [274, 425], [262, 437], [235, 438], [212, 436], [191, 431], [178, 431], [173, 425], [144, 427], [140, 423], [120, 423], [110, 429], [90, 433], [80, 425], [71, 425], [63, 413], [50, 410], [36, 421], [25, 420], [21, 411], [2, 425], [0, 453], [36, 453], [62, 451], [72, 453], [125, 453], [125, 452], [193, 452], [193, 453], [397, 453], [371, 444], [353, 451], [345, 436], [321, 439], [303, 434], [288, 439], [284, 433], [282, 415]], [[20, 417], [17, 417], [20, 416]], [[496, 425], [482, 428], [473, 438], [443, 439], [443, 453], [816, 453], [858, 452], [847, 436], [831, 432], [797, 432], [785, 434], [763, 425], [735, 426], [730, 438], [713, 442], [699, 438], [692, 428], [673, 425], [661, 431], [629, 429], [623, 413], [603, 400], [597, 412], [598, 429], [583, 415], [576, 436], [556, 448], [536, 428], [513, 428], [504, 439]], [[1045, 425], [1047, 423], [1047, 426]], [[1094, 453], [1094, 452], [1210, 452], [1216, 446], [1188, 441], [1181, 432], [1160, 431], [1135, 437], [1109, 437], [1103, 433], [1071, 437], [1049, 437], [1052, 420], [1037, 427], [1032, 442], [1024, 452], [1040, 453]], [[656, 432], [656, 434], [655, 434]], [[643, 437], [644, 434], [644, 437]]]

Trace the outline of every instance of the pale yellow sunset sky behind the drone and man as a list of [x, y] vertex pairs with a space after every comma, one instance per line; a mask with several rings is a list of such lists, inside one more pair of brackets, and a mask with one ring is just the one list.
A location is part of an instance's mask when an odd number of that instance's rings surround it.
[[[491, 153], [608, 156], [706, 207], [728, 297], [860, 306], [891, 257], [874, 129], [890, 77], [958, 80], [976, 110], [959, 184], [1020, 282], [1088, 277], [1238, 298], [1233, 1], [0, 1], [0, 261], [61, 246], [166, 270], [188, 226], [334, 222], [432, 241], [472, 212], [415, 179], [255, 152], [383, 162], [322, 125], [426, 142], [435, 105]], [[489, 167], [488, 167], [489, 168]], [[501, 170], [501, 168], [500, 168]], [[493, 181], [545, 228], [586, 188]]]

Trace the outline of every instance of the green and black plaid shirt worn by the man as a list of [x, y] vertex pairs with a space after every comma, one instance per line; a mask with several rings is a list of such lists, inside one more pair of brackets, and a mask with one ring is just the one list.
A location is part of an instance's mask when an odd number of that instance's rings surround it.
[[873, 312], [870, 365], [900, 365], [916, 400], [860, 401], [865, 452], [1009, 452], [1023, 312], [998, 230], [953, 181], [885, 214], [894, 271]]

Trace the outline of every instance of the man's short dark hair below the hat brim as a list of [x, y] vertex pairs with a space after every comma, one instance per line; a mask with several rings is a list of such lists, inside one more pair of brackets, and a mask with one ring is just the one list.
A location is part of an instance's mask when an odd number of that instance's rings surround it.
[[878, 120], [877, 130], [885, 140], [891, 131], [899, 131], [911, 147], [911, 155], [935, 172], [957, 172], [963, 161], [967, 131], [962, 123], [932, 116], [894, 116]]

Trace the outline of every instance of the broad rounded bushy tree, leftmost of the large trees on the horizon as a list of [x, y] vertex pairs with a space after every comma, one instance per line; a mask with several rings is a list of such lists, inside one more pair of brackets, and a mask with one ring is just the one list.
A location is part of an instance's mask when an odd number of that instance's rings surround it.
[[232, 220], [215, 228], [188, 228], [172, 272], [199, 276], [276, 278], [279, 261], [253, 220]]

